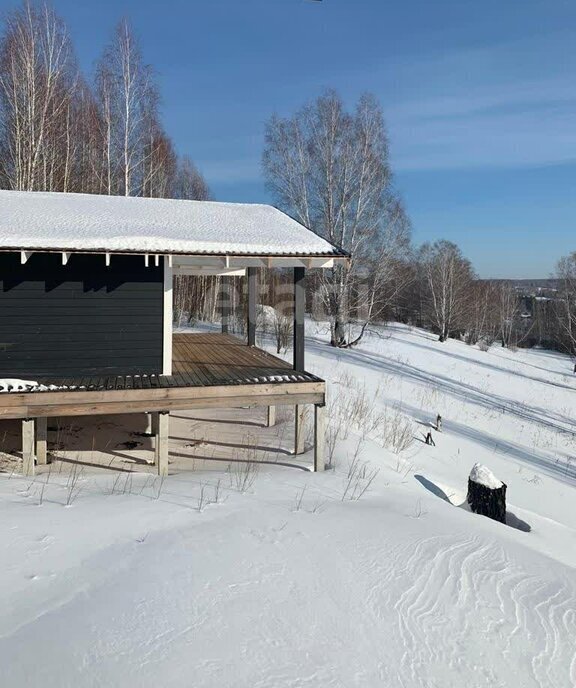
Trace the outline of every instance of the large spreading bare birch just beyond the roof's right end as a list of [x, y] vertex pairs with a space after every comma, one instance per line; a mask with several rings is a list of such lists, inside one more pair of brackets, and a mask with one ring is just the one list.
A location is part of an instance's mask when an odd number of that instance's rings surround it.
[[345, 331], [351, 309], [364, 328], [410, 242], [410, 225], [392, 186], [380, 106], [364, 95], [348, 113], [328, 91], [292, 117], [272, 117], [263, 168], [283, 210], [349, 252], [348, 266], [322, 272], [321, 293], [332, 345], [357, 343], [359, 337]]

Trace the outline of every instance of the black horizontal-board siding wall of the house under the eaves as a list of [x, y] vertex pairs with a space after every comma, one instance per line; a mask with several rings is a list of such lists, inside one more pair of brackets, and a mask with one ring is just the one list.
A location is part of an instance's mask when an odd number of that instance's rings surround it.
[[0, 254], [0, 377], [161, 373], [163, 290], [143, 256]]

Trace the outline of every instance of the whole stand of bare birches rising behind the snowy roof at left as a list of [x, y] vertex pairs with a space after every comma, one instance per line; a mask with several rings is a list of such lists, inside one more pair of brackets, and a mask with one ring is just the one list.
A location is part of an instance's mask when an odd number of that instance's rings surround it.
[[82, 78], [66, 27], [25, 0], [0, 37], [0, 186], [20, 190], [209, 197], [179, 161], [159, 113], [150, 67], [126, 21]]

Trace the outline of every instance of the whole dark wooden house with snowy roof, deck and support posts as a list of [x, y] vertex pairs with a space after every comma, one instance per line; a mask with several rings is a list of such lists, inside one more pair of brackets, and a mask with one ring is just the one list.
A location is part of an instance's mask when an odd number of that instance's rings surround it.
[[[0, 191], [0, 418], [22, 419], [24, 473], [46, 461], [49, 417], [151, 413], [166, 474], [170, 411], [278, 404], [297, 419], [314, 405], [323, 469], [304, 276], [345, 260], [271, 206]], [[256, 347], [258, 269], [275, 266], [294, 274], [292, 365]], [[173, 334], [178, 274], [247, 275], [247, 341], [228, 334], [226, 306], [221, 334]]]

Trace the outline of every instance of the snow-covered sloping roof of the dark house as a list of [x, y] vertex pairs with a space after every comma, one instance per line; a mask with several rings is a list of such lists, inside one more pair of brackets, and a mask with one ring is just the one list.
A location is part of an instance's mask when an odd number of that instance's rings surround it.
[[7, 249], [346, 255], [269, 205], [0, 191], [0, 250]]

